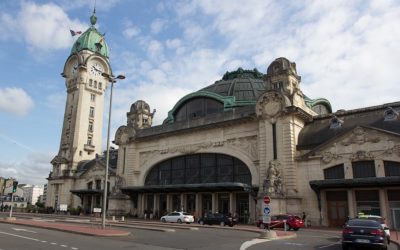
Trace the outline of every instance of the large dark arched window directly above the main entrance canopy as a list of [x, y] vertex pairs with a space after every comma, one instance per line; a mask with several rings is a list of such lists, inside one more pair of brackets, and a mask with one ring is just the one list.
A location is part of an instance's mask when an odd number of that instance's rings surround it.
[[251, 185], [251, 173], [241, 160], [223, 154], [195, 154], [165, 160], [154, 166], [145, 185], [236, 182]]

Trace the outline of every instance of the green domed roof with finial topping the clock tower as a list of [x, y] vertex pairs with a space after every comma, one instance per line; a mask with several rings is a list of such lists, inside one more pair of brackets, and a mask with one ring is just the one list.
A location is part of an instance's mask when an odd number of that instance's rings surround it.
[[102, 56], [109, 57], [109, 48], [104, 40], [104, 35], [100, 34], [99, 31], [94, 27], [96, 24], [97, 17], [95, 13], [90, 17], [90, 23], [92, 24], [79, 38], [75, 41], [71, 49], [71, 54], [78, 53], [81, 50], [90, 50], [95, 53], [100, 53]]

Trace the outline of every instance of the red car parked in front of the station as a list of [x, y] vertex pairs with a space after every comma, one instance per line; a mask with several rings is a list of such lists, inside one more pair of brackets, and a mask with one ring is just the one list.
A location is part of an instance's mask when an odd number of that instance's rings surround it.
[[265, 229], [269, 228], [284, 228], [286, 223], [287, 230], [293, 229], [295, 231], [299, 228], [304, 227], [304, 221], [297, 215], [290, 214], [279, 214], [271, 216], [271, 223], [264, 223], [262, 219], [259, 219], [256, 223], [257, 227]]

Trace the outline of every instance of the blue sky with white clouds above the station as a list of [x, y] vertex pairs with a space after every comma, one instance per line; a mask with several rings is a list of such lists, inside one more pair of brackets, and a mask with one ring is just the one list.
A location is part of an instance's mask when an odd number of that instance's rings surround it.
[[226, 71], [265, 73], [278, 57], [296, 62], [303, 93], [328, 99], [333, 111], [400, 101], [397, 0], [2, 0], [0, 176], [47, 183], [70, 29], [85, 31], [95, 5], [113, 73], [126, 76], [114, 86], [111, 140], [137, 100], [157, 110], [159, 125], [180, 98]]

